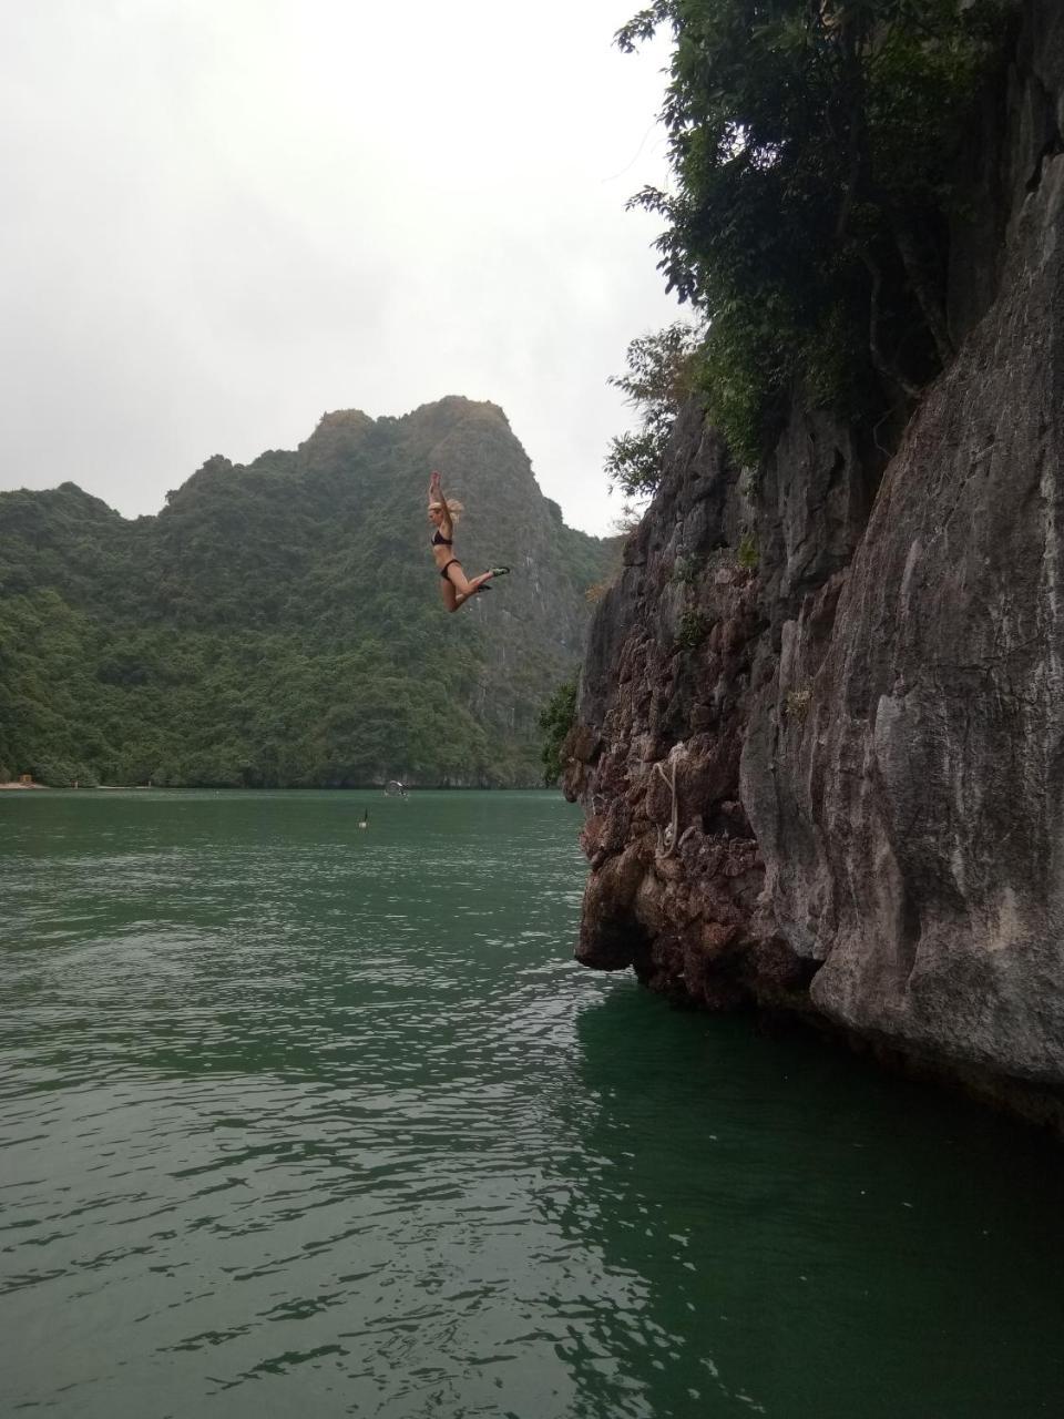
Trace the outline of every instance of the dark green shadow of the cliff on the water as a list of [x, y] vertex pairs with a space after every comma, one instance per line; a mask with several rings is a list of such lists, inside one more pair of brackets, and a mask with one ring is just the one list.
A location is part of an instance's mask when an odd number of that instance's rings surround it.
[[970, 1419], [1060, 1393], [1036, 1340], [1061, 1304], [1047, 1139], [807, 1033], [623, 988], [577, 1040], [587, 1171], [549, 1220], [602, 1257], [609, 1305], [575, 1332], [589, 1413], [600, 1371], [661, 1416]]

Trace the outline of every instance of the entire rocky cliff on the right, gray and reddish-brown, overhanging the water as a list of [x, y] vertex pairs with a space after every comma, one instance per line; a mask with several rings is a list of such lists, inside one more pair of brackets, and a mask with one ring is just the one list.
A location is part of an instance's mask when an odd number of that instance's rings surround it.
[[[894, 455], [691, 412], [592, 627], [579, 956], [1064, 1118], [1064, 14], [987, 106], [959, 353]], [[976, 200], [977, 199], [977, 200]]]

